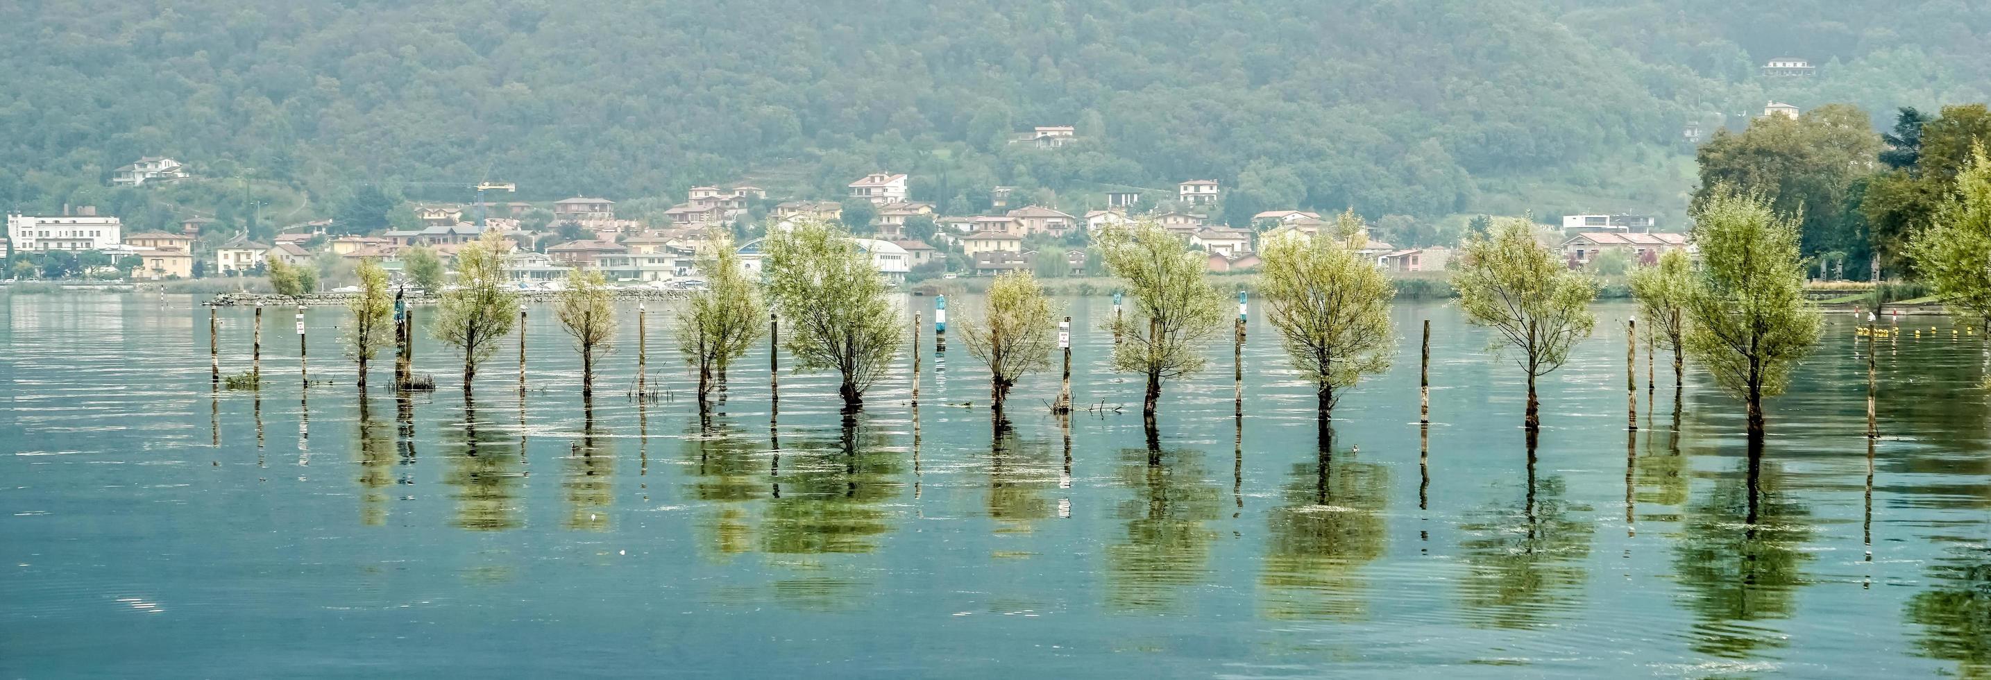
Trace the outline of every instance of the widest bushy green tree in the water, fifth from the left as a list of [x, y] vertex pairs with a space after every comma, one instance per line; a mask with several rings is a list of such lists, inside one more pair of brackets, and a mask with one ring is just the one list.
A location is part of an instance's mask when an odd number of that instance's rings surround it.
[[763, 243], [767, 294], [788, 322], [798, 370], [834, 370], [844, 412], [856, 412], [892, 366], [904, 324], [872, 256], [832, 223], [800, 219]]

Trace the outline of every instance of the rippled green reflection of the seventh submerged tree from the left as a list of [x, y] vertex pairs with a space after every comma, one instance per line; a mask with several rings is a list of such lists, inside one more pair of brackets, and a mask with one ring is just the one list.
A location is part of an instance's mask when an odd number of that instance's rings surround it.
[[1121, 612], [1167, 612], [1183, 587], [1211, 577], [1205, 527], [1222, 509], [1222, 489], [1209, 483], [1203, 451], [1121, 449], [1119, 481], [1133, 499], [1119, 505], [1125, 541], [1107, 545], [1107, 606]]

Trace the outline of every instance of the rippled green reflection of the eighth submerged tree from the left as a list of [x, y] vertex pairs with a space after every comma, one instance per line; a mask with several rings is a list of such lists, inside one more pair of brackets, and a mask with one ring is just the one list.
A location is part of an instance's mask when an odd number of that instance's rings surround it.
[[1388, 467], [1356, 461], [1352, 451], [1294, 463], [1284, 503], [1266, 521], [1270, 539], [1258, 577], [1264, 616], [1366, 618], [1370, 585], [1362, 567], [1382, 557], [1388, 497]]

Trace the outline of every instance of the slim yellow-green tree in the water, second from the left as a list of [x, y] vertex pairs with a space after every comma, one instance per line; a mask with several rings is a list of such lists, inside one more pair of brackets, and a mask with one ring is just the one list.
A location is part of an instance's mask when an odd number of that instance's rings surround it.
[[464, 392], [478, 364], [498, 352], [498, 340], [518, 324], [518, 290], [504, 274], [510, 245], [496, 231], [456, 251], [456, 290], [444, 290], [428, 332], [464, 356]]

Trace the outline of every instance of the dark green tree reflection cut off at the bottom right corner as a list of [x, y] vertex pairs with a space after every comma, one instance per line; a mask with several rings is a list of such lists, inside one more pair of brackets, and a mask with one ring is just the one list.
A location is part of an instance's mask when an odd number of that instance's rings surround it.
[[1923, 656], [1957, 662], [1965, 678], [1991, 678], [1991, 547], [1955, 547], [1929, 565], [1927, 591], [1907, 600], [1907, 620], [1923, 626]]

